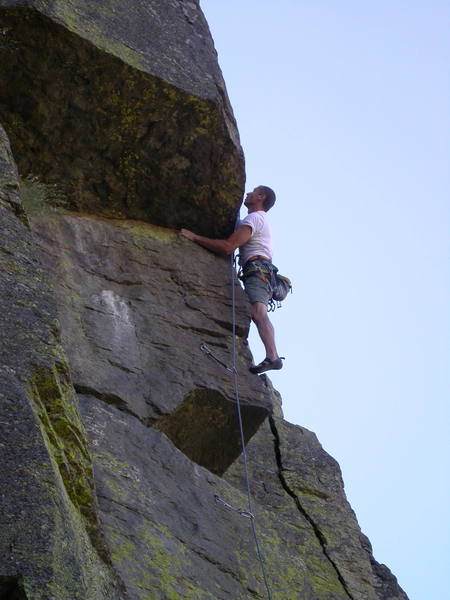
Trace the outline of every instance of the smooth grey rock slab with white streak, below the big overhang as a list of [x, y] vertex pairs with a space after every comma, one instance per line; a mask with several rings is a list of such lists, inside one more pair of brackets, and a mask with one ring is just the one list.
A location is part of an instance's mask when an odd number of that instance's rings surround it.
[[[72, 381], [153, 425], [192, 460], [223, 473], [241, 452], [230, 374], [230, 263], [178, 233], [137, 221], [40, 215], [43, 249], [63, 323]], [[240, 286], [240, 389], [247, 439], [271, 411], [248, 373], [247, 306]]]

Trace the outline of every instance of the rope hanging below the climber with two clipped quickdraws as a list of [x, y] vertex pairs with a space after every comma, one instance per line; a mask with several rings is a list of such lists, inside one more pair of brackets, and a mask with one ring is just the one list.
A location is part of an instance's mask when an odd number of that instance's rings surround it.
[[233, 391], [236, 399], [236, 409], [237, 409], [237, 417], [239, 421], [239, 431], [241, 436], [241, 446], [242, 446], [242, 457], [244, 459], [244, 474], [245, 474], [245, 484], [247, 488], [247, 505], [248, 510], [242, 510], [240, 508], [235, 508], [222, 500], [219, 496], [215, 495], [214, 499], [216, 503], [220, 503], [229, 510], [239, 513], [242, 517], [247, 517], [250, 520], [253, 538], [255, 540], [256, 553], [258, 555], [259, 564], [261, 566], [261, 573], [264, 579], [264, 585], [267, 591], [268, 600], [272, 600], [272, 594], [270, 592], [269, 582], [267, 580], [266, 569], [264, 566], [264, 557], [261, 552], [261, 548], [259, 546], [258, 534], [256, 531], [255, 524], [255, 516], [252, 511], [252, 497], [250, 491], [250, 477], [248, 473], [248, 461], [247, 461], [247, 450], [245, 448], [245, 437], [244, 437], [244, 426], [242, 422], [242, 414], [241, 414], [241, 402], [239, 399], [239, 386], [238, 386], [238, 378], [237, 378], [237, 368], [236, 368], [236, 290], [235, 290], [235, 257], [234, 254], [231, 255], [231, 307], [232, 307], [232, 347], [231, 347], [231, 367], [226, 365], [223, 361], [221, 361], [217, 356], [213, 354], [213, 352], [208, 348], [206, 344], [201, 344], [200, 349], [204, 352], [209, 358], [220, 364], [224, 369], [226, 369], [229, 373], [231, 373], [233, 378]]

